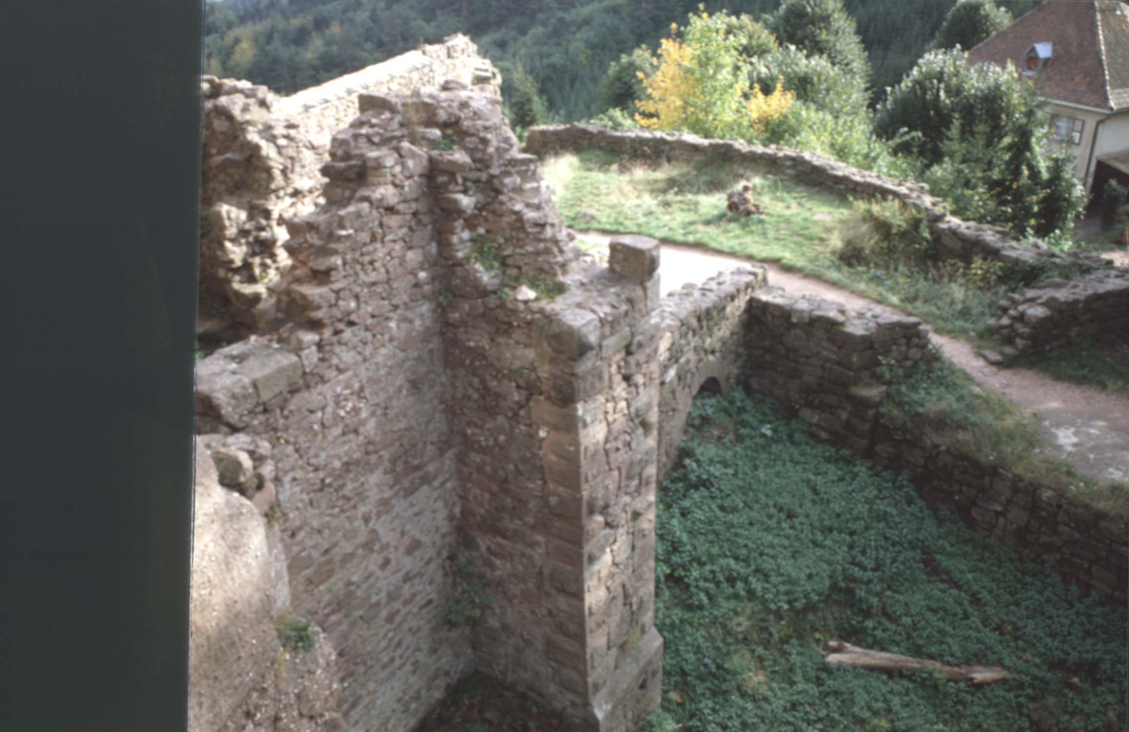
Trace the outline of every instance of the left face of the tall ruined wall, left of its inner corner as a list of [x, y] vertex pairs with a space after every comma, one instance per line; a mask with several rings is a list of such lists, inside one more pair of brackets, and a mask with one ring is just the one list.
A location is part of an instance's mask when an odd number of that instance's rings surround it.
[[327, 170], [329, 204], [291, 223], [292, 324], [201, 362], [198, 412], [274, 446], [295, 610], [338, 649], [345, 729], [393, 731], [471, 650], [440, 611], [460, 511], [429, 157], [406, 141], [379, 152], [392, 185], [366, 185], [364, 159]]

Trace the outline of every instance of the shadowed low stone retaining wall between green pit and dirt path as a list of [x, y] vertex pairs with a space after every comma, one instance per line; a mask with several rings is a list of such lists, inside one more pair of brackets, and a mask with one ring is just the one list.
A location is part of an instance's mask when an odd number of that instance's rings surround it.
[[1129, 524], [1034, 480], [935, 444], [879, 407], [886, 365], [931, 360], [924, 326], [881, 308], [857, 314], [763, 288], [750, 301], [751, 386], [795, 411], [822, 440], [908, 470], [934, 503], [974, 529], [1031, 549], [1064, 576], [1126, 601]]

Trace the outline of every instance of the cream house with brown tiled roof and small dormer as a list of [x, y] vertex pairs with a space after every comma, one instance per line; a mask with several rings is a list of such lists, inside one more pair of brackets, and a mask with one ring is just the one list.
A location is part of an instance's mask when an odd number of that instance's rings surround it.
[[1129, 183], [1129, 5], [1045, 0], [971, 48], [969, 62], [1012, 62], [1038, 86], [1053, 144], [1074, 155], [1087, 193]]

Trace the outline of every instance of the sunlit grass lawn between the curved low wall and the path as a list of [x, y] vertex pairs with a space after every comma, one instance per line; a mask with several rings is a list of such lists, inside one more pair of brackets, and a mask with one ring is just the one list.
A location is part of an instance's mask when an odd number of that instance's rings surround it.
[[[982, 286], [959, 265], [928, 271], [903, 262], [847, 264], [842, 232], [859, 227], [850, 199], [799, 177], [755, 177], [725, 160], [649, 169], [602, 151], [545, 160], [557, 208], [574, 229], [641, 233], [673, 244], [773, 262], [910, 312], [946, 335], [987, 335], [1001, 285]], [[725, 192], [747, 182], [763, 217], [725, 210]]]

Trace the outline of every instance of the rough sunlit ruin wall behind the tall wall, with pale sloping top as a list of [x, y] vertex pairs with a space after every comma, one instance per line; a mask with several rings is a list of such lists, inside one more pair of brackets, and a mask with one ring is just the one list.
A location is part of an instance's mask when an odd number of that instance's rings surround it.
[[289, 265], [285, 219], [322, 203], [330, 139], [357, 96], [455, 79], [500, 95], [493, 65], [464, 35], [422, 46], [289, 97], [250, 81], [202, 77], [201, 336], [230, 341], [274, 318], [271, 285]]

